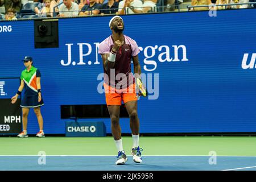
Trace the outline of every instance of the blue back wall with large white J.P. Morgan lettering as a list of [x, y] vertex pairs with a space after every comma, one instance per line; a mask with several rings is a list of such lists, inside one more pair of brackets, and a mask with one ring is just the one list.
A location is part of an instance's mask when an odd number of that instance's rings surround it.
[[[124, 34], [141, 49], [142, 72], [159, 78], [158, 94], [157, 84], [150, 93], [154, 99], [138, 102], [141, 133], [256, 132], [255, 13], [122, 16]], [[111, 34], [110, 18], [59, 19], [59, 48], [44, 49], [34, 48], [34, 21], [0, 22], [0, 78], [19, 77], [22, 58], [34, 58], [42, 73], [46, 134], [65, 132], [60, 105], [105, 104], [105, 95], [97, 91], [103, 72], [97, 45]], [[4, 26], [11, 31], [3, 31]], [[11, 98], [15, 92], [8, 94]], [[104, 121], [111, 133], [110, 119], [87, 120]], [[129, 118], [120, 122], [122, 133], [130, 133]], [[31, 110], [28, 133], [38, 130]]]

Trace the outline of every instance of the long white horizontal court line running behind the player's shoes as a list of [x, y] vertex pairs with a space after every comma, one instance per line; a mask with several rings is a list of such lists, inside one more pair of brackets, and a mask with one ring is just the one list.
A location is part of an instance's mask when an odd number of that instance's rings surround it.
[[[116, 155], [0, 155], [0, 156], [116, 156]], [[131, 155], [127, 155], [131, 156]], [[143, 155], [143, 156], [211, 156], [211, 155]], [[216, 157], [256, 157], [255, 155], [217, 155]]]

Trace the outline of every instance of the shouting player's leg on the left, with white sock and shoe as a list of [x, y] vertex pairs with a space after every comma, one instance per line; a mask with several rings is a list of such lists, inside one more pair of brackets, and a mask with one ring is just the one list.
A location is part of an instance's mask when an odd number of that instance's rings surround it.
[[117, 162], [115, 162], [115, 164], [125, 164], [127, 157], [125, 155], [125, 151], [123, 150], [121, 127], [119, 124], [120, 105], [109, 105], [108, 110], [111, 118], [111, 131], [114, 138], [115, 147], [117, 147], [118, 151]]

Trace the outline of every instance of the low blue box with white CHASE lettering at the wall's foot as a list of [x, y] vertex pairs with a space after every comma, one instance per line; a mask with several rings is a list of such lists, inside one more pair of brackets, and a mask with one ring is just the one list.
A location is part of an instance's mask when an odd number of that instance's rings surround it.
[[66, 121], [66, 137], [105, 137], [104, 122]]

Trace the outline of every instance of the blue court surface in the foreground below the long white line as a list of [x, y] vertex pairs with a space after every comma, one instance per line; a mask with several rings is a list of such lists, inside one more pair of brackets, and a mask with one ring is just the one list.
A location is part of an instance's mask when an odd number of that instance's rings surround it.
[[[125, 165], [116, 166], [115, 156], [0, 156], [0, 170], [54, 171], [220, 171], [256, 170], [256, 156], [144, 156], [143, 163], [127, 156]], [[41, 160], [43, 159], [43, 160]], [[41, 161], [41, 164], [39, 164]], [[39, 162], [39, 163], [38, 163]], [[45, 163], [45, 164], [42, 164]]]

